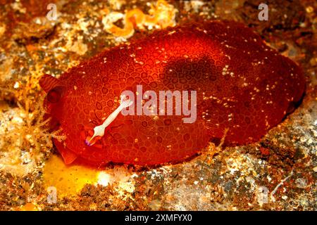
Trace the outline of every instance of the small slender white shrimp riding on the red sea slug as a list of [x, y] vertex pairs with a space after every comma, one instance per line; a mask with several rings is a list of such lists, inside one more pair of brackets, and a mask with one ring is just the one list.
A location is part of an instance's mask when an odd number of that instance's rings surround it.
[[131, 101], [130, 99], [126, 99], [125, 96], [121, 96], [121, 101], [120, 101], [120, 105], [118, 106], [118, 108], [116, 108], [116, 110], [113, 111], [113, 113], [111, 113], [111, 115], [109, 115], [106, 120], [104, 121], [103, 124], [94, 127], [94, 135], [89, 139], [89, 137], [87, 137], [86, 139], [86, 144], [88, 146], [92, 146], [94, 144], [93, 140], [95, 137], [97, 136], [104, 136], [104, 130], [106, 129], [106, 127], [108, 127], [109, 124], [111, 124], [111, 122], [113, 122], [113, 120], [116, 119], [116, 117], [119, 115], [119, 113], [121, 112], [121, 110], [123, 110], [124, 108], [129, 107], [130, 105], [132, 105], [133, 101]]

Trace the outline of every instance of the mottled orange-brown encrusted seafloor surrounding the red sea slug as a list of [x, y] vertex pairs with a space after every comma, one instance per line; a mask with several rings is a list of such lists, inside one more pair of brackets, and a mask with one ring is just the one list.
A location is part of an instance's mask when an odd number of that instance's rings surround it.
[[[317, 1], [266, 1], [268, 21], [258, 19], [261, 1], [61, 0], [49, 21], [51, 2], [0, 0], [0, 210], [317, 210]], [[129, 30], [132, 10], [147, 23]], [[58, 77], [107, 47], [199, 18], [254, 27], [301, 64], [299, 108], [257, 143], [211, 143], [178, 165], [63, 165], [51, 143], [58, 132], [43, 119], [40, 75]]]

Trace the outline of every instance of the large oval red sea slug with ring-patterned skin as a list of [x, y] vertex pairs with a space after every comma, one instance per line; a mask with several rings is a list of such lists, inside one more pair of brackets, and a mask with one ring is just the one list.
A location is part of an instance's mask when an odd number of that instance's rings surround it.
[[[64, 161], [93, 165], [180, 162], [221, 139], [225, 130], [230, 145], [259, 141], [294, 108], [305, 88], [297, 64], [230, 21], [156, 31], [108, 49], [59, 79], [44, 75], [39, 84], [47, 92], [46, 112], [66, 136], [54, 140]], [[135, 99], [123, 98], [124, 91]], [[157, 99], [146, 91], [155, 91]], [[173, 99], [166, 106], [173, 115], [161, 114], [160, 91], [172, 91], [163, 105]], [[196, 115], [175, 108], [173, 91]], [[155, 101], [149, 105], [149, 99]], [[153, 115], [137, 112], [137, 103]], [[123, 109], [135, 115], [123, 115]]]

